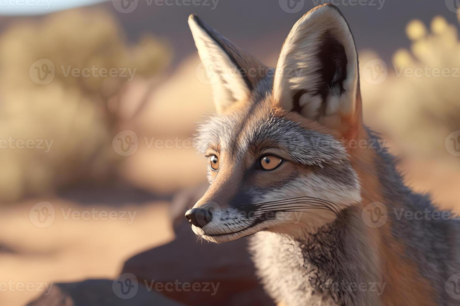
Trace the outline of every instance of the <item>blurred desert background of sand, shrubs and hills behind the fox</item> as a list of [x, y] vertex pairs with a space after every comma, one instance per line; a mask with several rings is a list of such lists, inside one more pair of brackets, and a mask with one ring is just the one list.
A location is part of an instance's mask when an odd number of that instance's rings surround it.
[[[460, 142], [450, 138], [460, 136], [460, 15], [449, 1], [401, 2], [339, 4], [360, 57], [365, 122], [400, 157], [410, 186], [458, 210]], [[107, 1], [32, 15], [0, 6], [0, 139], [14, 140], [0, 149], [1, 284], [114, 279], [131, 256], [173, 241], [173, 199], [205, 181], [206, 161], [191, 146], [196, 122], [214, 110], [188, 15], [273, 67], [316, 4], [289, 13], [264, 0], [136, 3], [132, 12]], [[87, 67], [116, 73], [66, 73]], [[424, 67], [447, 70], [436, 77]], [[417, 68], [425, 72], [406, 73]], [[44, 293], [14, 288], [0, 287], [0, 305]]]

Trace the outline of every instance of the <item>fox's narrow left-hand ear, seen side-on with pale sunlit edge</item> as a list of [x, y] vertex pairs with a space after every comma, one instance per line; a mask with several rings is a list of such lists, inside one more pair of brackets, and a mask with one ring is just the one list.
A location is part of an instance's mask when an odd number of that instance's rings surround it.
[[267, 72], [267, 67], [196, 15], [190, 15], [189, 26], [209, 83], [213, 85], [217, 111], [221, 112], [231, 103], [249, 97]]

